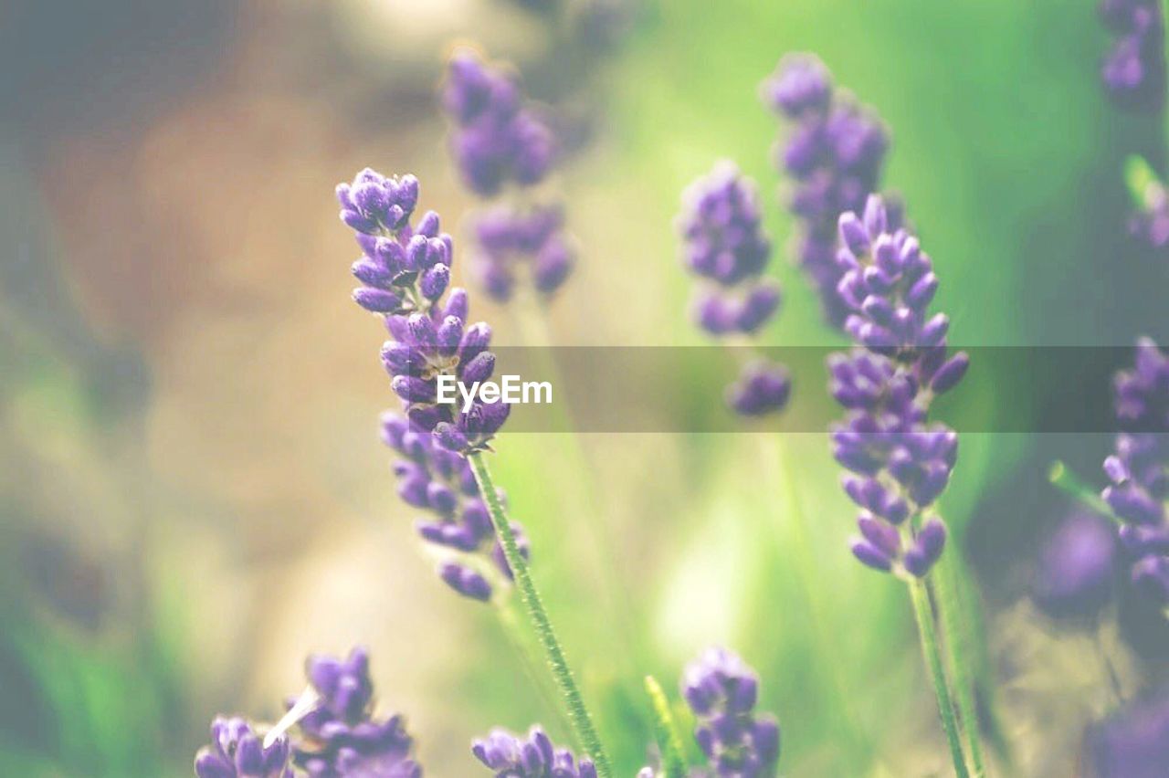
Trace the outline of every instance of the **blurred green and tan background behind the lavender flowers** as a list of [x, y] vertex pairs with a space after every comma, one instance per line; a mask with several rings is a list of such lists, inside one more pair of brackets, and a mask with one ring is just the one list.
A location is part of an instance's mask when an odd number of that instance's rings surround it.
[[[338, 181], [366, 165], [414, 172], [423, 207], [452, 224], [471, 206], [436, 105], [457, 41], [513, 61], [577, 146], [560, 183], [581, 261], [547, 342], [704, 342], [672, 220], [682, 188], [722, 158], [760, 182], [781, 246], [786, 305], [767, 342], [839, 342], [782, 250], [776, 123], [756, 97], [795, 50], [892, 130], [885, 181], [938, 265], [954, 343], [1169, 336], [1169, 270], [1128, 238], [1120, 174], [1128, 153], [1164, 161], [1163, 127], [1106, 102], [1087, 1], [13, 0], [0, 8], [0, 772], [189, 774], [216, 711], [274, 720], [306, 653], [355, 642], [428, 774], [478, 774], [468, 743], [493, 724], [565, 731], [498, 619], [450, 595], [415, 541], [376, 437], [392, 401], [381, 335], [347, 299]], [[526, 342], [513, 312], [479, 296], [473, 313], [500, 343]], [[1011, 377], [975, 366], [953, 412], [1050, 410], [1021, 404]], [[673, 412], [721, 412], [708, 378]], [[1052, 376], [1039, 394], [1056, 405], [1077, 391]], [[962, 446], [943, 508], [980, 592], [1001, 731], [1021, 774], [1078, 774], [1085, 729], [1116, 704], [1101, 657], [1122, 694], [1155, 687], [1169, 658], [1163, 623], [1123, 596], [1101, 638], [1029, 599], [1037, 548], [1070, 509], [1047, 465], [1097, 484], [1109, 439], [967, 433]], [[850, 558], [823, 436], [505, 433], [498, 449], [623, 774], [649, 738], [641, 676], [673, 689], [714, 642], [760, 671], [784, 774], [849, 774], [800, 570], [819, 581], [830, 672], [869, 732], [872, 774], [945, 770], [907, 600]], [[790, 537], [797, 509], [808, 554]]]

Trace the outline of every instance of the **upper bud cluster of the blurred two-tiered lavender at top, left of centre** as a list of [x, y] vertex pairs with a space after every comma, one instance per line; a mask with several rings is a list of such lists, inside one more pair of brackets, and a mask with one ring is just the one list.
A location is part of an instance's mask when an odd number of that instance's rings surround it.
[[451, 57], [443, 106], [455, 124], [451, 137], [463, 180], [479, 195], [509, 182], [539, 182], [556, 157], [547, 123], [524, 103], [512, 74], [486, 65], [471, 51]]

